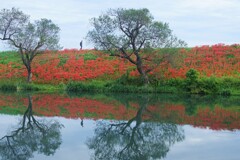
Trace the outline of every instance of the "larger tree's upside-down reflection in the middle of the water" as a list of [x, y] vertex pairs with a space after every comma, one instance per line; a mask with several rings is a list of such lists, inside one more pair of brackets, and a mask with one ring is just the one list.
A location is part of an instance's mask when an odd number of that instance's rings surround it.
[[[128, 100], [125, 100], [124, 103], [129, 106]], [[95, 151], [94, 159], [160, 159], [166, 156], [175, 142], [184, 139], [180, 127], [161, 123], [159, 116], [147, 110], [148, 102], [148, 97], [138, 97], [139, 109], [136, 116], [127, 122], [97, 123], [95, 136], [87, 143]], [[153, 119], [143, 121], [146, 114]]]

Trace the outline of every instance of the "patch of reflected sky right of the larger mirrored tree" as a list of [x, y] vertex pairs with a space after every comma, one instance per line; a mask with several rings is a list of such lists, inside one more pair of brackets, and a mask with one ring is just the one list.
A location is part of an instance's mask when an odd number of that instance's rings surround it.
[[239, 160], [240, 131], [183, 127], [185, 140], [176, 143], [167, 160]]

